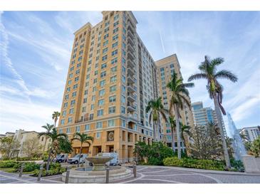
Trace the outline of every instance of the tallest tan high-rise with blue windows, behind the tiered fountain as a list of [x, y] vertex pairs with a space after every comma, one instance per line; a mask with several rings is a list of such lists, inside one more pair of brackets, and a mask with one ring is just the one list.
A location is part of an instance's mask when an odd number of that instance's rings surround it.
[[[158, 95], [157, 68], [131, 11], [102, 14], [100, 23], [74, 33], [58, 132], [86, 132], [94, 140], [83, 153], [118, 152], [126, 162], [135, 158], [135, 142], [154, 138], [145, 107]], [[78, 153], [80, 143], [73, 149]]]

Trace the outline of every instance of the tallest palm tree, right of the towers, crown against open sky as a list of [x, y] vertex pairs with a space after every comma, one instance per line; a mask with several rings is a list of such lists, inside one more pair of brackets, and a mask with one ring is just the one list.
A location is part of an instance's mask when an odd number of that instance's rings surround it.
[[197, 80], [204, 78], [207, 80], [206, 88], [209, 92], [209, 97], [214, 100], [214, 107], [217, 115], [217, 125], [219, 126], [221, 138], [222, 138], [222, 145], [224, 150], [224, 158], [226, 161], [226, 165], [228, 168], [231, 167], [229, 153], [227, 150], [227, 142], [225, 140], [224, 131], [222, 127], [222, 113], [226, 115], [224, 107], [222, 107], [222, 92], [223, 86], [220, 85], [217, 79], [219, 78], [226, 78], [231, 80], [233, 83], [237, 81], [236, 75], [231, 73], [229, 70], [220, 70], [217, 71], [217, 66], [221, 65], [224, 62], [224, 58], [214, 58], [211, 60], [208, 56], [205, 56], [205, 60], [199, 65], [199, 70], [201, 73], [197, 73], [191, 75], [188, 81]]

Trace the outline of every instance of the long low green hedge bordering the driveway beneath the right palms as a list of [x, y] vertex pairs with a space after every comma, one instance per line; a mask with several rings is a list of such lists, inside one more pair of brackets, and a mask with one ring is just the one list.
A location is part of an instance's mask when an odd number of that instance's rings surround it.
[[167, 157], [163, 159], [163, 164], [165, 166], [187, 167], [194, 169], [211, 169], [219, 171], [224, 171], [225, 167], [225, 164], [222, 161], [191, 158], [178, 159], [177, 157]]

